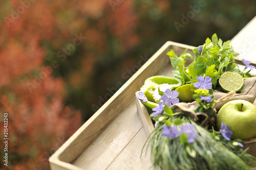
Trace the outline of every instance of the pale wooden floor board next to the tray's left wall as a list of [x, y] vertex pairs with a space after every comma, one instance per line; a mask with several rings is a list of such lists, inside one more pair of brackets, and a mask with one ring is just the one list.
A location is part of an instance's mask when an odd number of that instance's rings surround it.
[[84, 169], [105, 169], [142, 128], [135, 101], [73, 163]]

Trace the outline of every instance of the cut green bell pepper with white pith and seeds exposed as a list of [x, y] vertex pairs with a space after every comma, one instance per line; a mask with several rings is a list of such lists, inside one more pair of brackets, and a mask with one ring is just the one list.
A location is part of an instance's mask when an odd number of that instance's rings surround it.
[[168, 85], [168, 88], [176, 89], [181, 85], [181, 80], [167, 76], [153, 76], [145, 80], [145, 83], [140, 88], [140, 91], [145, 94], [148, 101], [155, 102], [153, 93], [157, 87], [163, 84]]

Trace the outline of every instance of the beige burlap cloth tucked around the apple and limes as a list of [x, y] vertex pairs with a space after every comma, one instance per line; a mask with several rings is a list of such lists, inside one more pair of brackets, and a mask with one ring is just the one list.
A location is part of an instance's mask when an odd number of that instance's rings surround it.
[[[230, 93], [231, 94], [231, 93]], [[256, 106], [256, 77], [245, 78], [244, 86], [241, 93], [234, 93], [233, 95], [223, 92], [220, 88], [214, 90], [214, 97], [216, 105], [214, 108], [219, 110], [225, 103], [232, 100], [246, 100]], [[220, 100], [222, 99], [222, 100]], [[223, 100], [224, 99], [224, 100]], [[222, 102], [220, 102], [222, 101]], [[201, 123], [203, 126], [208, 125], [208, 116], [206, 113], [196, 113], [195, 109], [199, 104], [194, 101], [192, 103], [177, 103], [172, 107], [176, 107], [177, 111], [183, 111], [187, 116], [194, 118], [195, 121]], [[212, 118], [215, 120], [215, 116]]]

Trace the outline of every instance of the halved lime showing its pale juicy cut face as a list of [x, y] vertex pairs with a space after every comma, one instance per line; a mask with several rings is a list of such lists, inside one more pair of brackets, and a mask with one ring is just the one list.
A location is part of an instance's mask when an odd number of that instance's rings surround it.
[[223, 91], [241, 91], [244, 79], [237, 72], [224, 72], [219, 79], [220, 86]]

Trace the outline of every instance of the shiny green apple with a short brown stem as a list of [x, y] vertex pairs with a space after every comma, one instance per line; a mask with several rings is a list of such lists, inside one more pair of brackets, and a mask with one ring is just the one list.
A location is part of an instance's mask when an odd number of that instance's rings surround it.
[[224, 104], [217, 115], [217, 128], [228, 124], [231, 138], [248, 140], [256, 137], [256, 107], [245, 100], [233, 100]]

